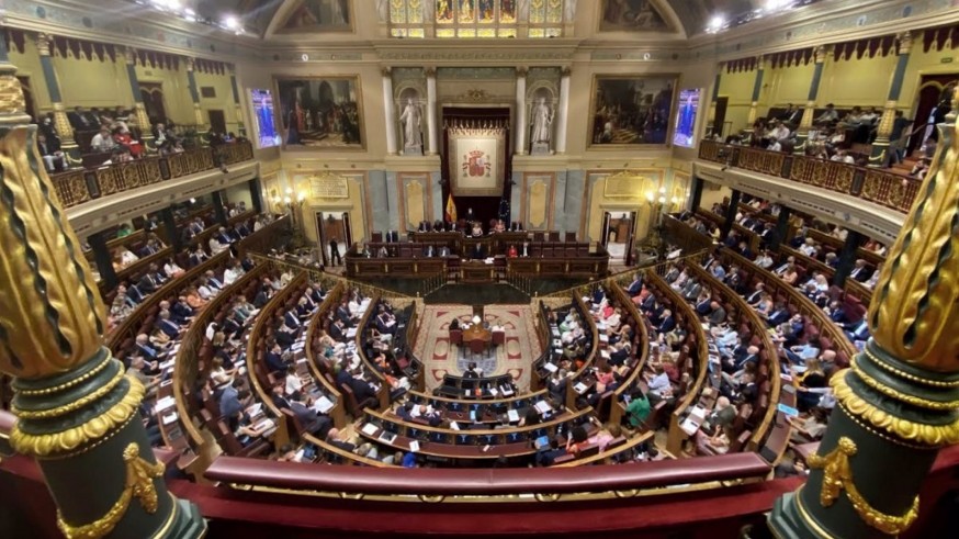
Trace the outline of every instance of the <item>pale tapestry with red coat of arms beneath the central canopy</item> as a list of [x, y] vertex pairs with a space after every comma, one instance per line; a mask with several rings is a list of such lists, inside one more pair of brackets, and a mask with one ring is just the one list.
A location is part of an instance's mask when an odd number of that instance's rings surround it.
[[450, 177], [456, 196], [499, 196], [506, 173], [506, 132], [448, 127]]

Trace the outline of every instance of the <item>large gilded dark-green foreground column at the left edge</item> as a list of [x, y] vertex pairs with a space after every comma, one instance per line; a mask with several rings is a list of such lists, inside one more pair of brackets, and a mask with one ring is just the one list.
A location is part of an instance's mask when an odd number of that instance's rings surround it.
[[205, 523], [162, 479], [139, 418], [143, 384], [103, 346], [105, 310], [38, 162], [36, 126], [0, 41], [0, 371], [10, 445], [36, 459], [68, 538], [193, 538]]

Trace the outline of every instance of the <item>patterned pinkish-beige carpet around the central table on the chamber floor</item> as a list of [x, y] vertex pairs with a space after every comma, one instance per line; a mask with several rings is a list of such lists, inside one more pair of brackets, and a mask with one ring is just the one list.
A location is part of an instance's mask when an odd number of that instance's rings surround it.
[[533, 313], [529, 305], [488, 305], [484, 310], [486, 322], [490, 325], [497, 319], [506, 328], [506, 343], [489, 356], [475, 357], [469, 349], [450, 345], [450, 323], [454, 317], [469, 322], [473, 310], [463, 305], [426, 305], [422, 326], [419, 328], [414, 353], [426, 368], [426, 385], [433, 389], [440, 385], [447, 373], [460, 375], [470, 361], [483, 369], [484, 375], [509, 372], [517, 386], [526, 391], [530, 384], [532, 361], [541, 349], [533, 326]]

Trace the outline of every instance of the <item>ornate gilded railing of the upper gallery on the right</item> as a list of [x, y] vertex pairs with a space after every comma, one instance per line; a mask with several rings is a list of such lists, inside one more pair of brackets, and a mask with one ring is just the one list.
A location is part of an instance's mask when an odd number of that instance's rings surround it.
[[887, 169], [714, 141], [699, 144], [699, 158], [848, 194], [902, 213], [909, 213], [922, 183]]

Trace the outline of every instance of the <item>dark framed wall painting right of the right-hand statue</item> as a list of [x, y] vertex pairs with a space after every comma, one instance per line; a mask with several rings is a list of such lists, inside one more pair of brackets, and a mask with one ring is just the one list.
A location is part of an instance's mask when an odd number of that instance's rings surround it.
[[595, 75], [587, 146], [668, 146], [677, 79], [677, 75]]

